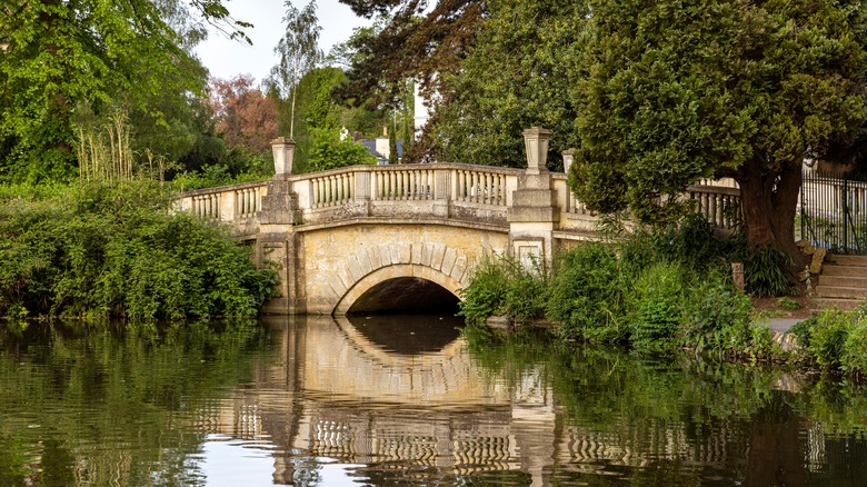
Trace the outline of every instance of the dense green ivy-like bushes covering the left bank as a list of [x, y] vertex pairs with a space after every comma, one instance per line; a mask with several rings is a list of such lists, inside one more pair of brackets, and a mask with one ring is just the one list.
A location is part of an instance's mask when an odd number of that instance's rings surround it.
[[273, 270], [156, 182], [0, 188], [0, 315], [255, 315]]

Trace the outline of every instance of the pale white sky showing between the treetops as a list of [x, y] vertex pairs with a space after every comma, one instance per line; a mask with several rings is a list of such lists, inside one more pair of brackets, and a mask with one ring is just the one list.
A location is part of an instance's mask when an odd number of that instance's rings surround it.
[[[292, 0], [299, 10], [307, 2]], [[285, 32], [285, 0], [228, 0], [223, 4], [232, 17], [253, 24], [252, 29], [247, 30], [253, 44], [230, 40], [213, 31], [208, 40], [196, 48], [196, 53], [212, 77], [228, 79], [237, 74], [252, 74], [257, 82], [261, 82], [277, 63], [273, 48]], [[319, 26], [322, 28], [319, 47], [326, 54], [332, 46], [349, 39], [352, 29], [372, 23], [371, 20], [356, 17], [349, 7], [337, 0], [317, 0], [317, 7]]]

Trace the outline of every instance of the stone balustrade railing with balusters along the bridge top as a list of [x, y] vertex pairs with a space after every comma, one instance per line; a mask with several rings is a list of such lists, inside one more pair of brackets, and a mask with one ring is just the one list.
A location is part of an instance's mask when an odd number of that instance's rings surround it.
[[[522, 172], [461, 163], [353, 166], [285, 180], [188, 191], [176, 208], [240, 227], [256, 226], [269, 187], [287, 185], [288, 191], [298, 196], [296, 225], [405, 217], [508, 226], [507, 209], [514, 205], [512, 193]], [[560, 210], [559, 231], [592, 231], [596, 213], [569, 191], [566, 179], [564, 173], [551, 173], [555, 205]], [[696, 202], [696, 209], [712, 226], [731, 230], [740, 225], [737, 188], [695, 185], [687, 188], [685, 197]]]

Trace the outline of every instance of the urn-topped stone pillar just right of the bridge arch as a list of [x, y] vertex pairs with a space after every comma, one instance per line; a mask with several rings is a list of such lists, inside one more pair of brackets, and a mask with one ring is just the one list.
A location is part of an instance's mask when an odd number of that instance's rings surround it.
[[542, 269], [551, 265], [554, 231], [560, 222], [557, 191], [546, 167], [550, 135], [550, 130], [539, 127], [524, 131], [527, 170], [518, 178], [518, 189], [506, 213], [512, 254], [525, 266], [536, 264]]

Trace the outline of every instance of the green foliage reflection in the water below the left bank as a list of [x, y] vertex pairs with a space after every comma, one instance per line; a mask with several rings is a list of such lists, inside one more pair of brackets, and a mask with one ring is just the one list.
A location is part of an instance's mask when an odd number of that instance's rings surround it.
[[0, 329], [0, 485], [202, 484], [188, 425], [249, 380], [259, 328], [111, 328]]

